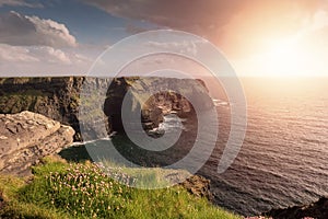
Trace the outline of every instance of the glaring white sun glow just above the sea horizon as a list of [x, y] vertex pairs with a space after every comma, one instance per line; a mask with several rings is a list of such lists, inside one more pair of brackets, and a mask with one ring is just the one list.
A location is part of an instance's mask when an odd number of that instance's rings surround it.
[[327, 76], [325, 47], [318, 47], [302, 34], [266, 39], [261, 51], [239, 60], [234, 66], [241, 76], [257, 77], [321, 77]]

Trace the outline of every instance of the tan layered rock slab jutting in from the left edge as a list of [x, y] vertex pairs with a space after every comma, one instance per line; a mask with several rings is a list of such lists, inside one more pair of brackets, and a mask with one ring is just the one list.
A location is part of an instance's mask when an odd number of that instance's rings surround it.
[[40, 158], [71, 145], [73, 135], [71, 127], [32, 112], [0, 114], [0, 173], [28, 174]]

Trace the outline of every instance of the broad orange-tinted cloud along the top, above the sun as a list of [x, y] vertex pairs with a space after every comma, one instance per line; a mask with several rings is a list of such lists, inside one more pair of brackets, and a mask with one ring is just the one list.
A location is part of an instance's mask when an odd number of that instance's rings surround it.
[[200, 35], [233, 57], [257, 53], [262, 41], [296, 33], [303, 25], [300, 18], [327, 5], [327, 0], [83, 1], [115, 16]]

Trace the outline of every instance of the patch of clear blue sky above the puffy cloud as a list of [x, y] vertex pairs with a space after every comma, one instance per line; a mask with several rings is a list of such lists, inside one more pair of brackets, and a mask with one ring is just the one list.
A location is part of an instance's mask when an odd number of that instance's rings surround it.
[[104, 10], [78, 0], [30, 2], [35, 3], [36, 7], [3, 5], [0, 12], [15, 11], [20, 14], [57, 21], [65, 24], [82, 44], [109, 45], [131, 34], [127, 32], [127, 25], [150, 26], [145, 22], [110, 15]]

